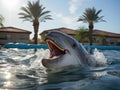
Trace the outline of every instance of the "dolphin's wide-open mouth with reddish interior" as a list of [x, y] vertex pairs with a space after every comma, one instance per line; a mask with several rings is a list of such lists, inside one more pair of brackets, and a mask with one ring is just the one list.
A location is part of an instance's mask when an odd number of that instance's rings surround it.
[[67, 51], [68, 51], [68, 50], [64, 49], [63, 47], [61, 47], [54, 40], [47, 39], [46, 42], [47, 42], [48, 48], [50, 50], [49, 60], [53, 60], [53, 59], [59, 58], [60, 56], [66, 54]]

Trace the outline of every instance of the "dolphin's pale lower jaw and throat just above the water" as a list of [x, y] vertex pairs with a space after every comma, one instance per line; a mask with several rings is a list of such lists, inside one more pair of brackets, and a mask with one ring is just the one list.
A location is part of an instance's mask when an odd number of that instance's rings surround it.
[[[67, 57], [67, 55], [65, 56]], [[69, 57], [69, 56], [68, 56]], [[81, 62], [78, 62], [77, 60], [74, 59], [64, 59], [64, 55], [61, 57], [58, 57], [56, 59], [43, 59], [42, 60], [43, 66], [49, 69], [59, 69], [59, 68], [64, 68], [68, 66], [80, 66]]]

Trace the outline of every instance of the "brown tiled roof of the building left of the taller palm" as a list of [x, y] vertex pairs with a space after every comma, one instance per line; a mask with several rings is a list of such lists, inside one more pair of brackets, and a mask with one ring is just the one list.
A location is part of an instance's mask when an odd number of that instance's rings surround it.
[[28, 33], [28, 34], [31, 33], [30, 31], [19, 29], [19, 28], [15, 28], [15, 27], [2, 27], [2, 28], [0, 28], [0, 32]]

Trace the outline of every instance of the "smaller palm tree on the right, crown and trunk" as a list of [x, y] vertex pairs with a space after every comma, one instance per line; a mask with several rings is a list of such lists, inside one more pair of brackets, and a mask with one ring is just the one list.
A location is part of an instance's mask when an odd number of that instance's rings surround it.
[[83, 21], [84, 23], [88, 23], [90, 45], [92, 45], [92, 32], [94, 28], [94, 23], [105, 21], [102, 19], [104, 16], [99, 16], [101, 12], [102, 10], [96, 11], [94, 7], [87, 8], [85, 9], [83, 15], [78, 19], [78, 21]]

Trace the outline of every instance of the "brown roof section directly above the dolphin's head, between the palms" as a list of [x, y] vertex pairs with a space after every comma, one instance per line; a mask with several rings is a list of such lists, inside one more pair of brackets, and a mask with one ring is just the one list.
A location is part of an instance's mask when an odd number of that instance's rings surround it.
[[76, 30], [69, 29], [69, 28], [64, 28], [64, 27], [45, 30], [45, 31], [43, 31], [42, 33], [48, 33], [48, 32], [51, 32], [51, 31], [60, 31], [60, 32], [63, 32], [63, 33], [69, 34], [69, 35], [74, 35], [74, 34], [76, 34]]

